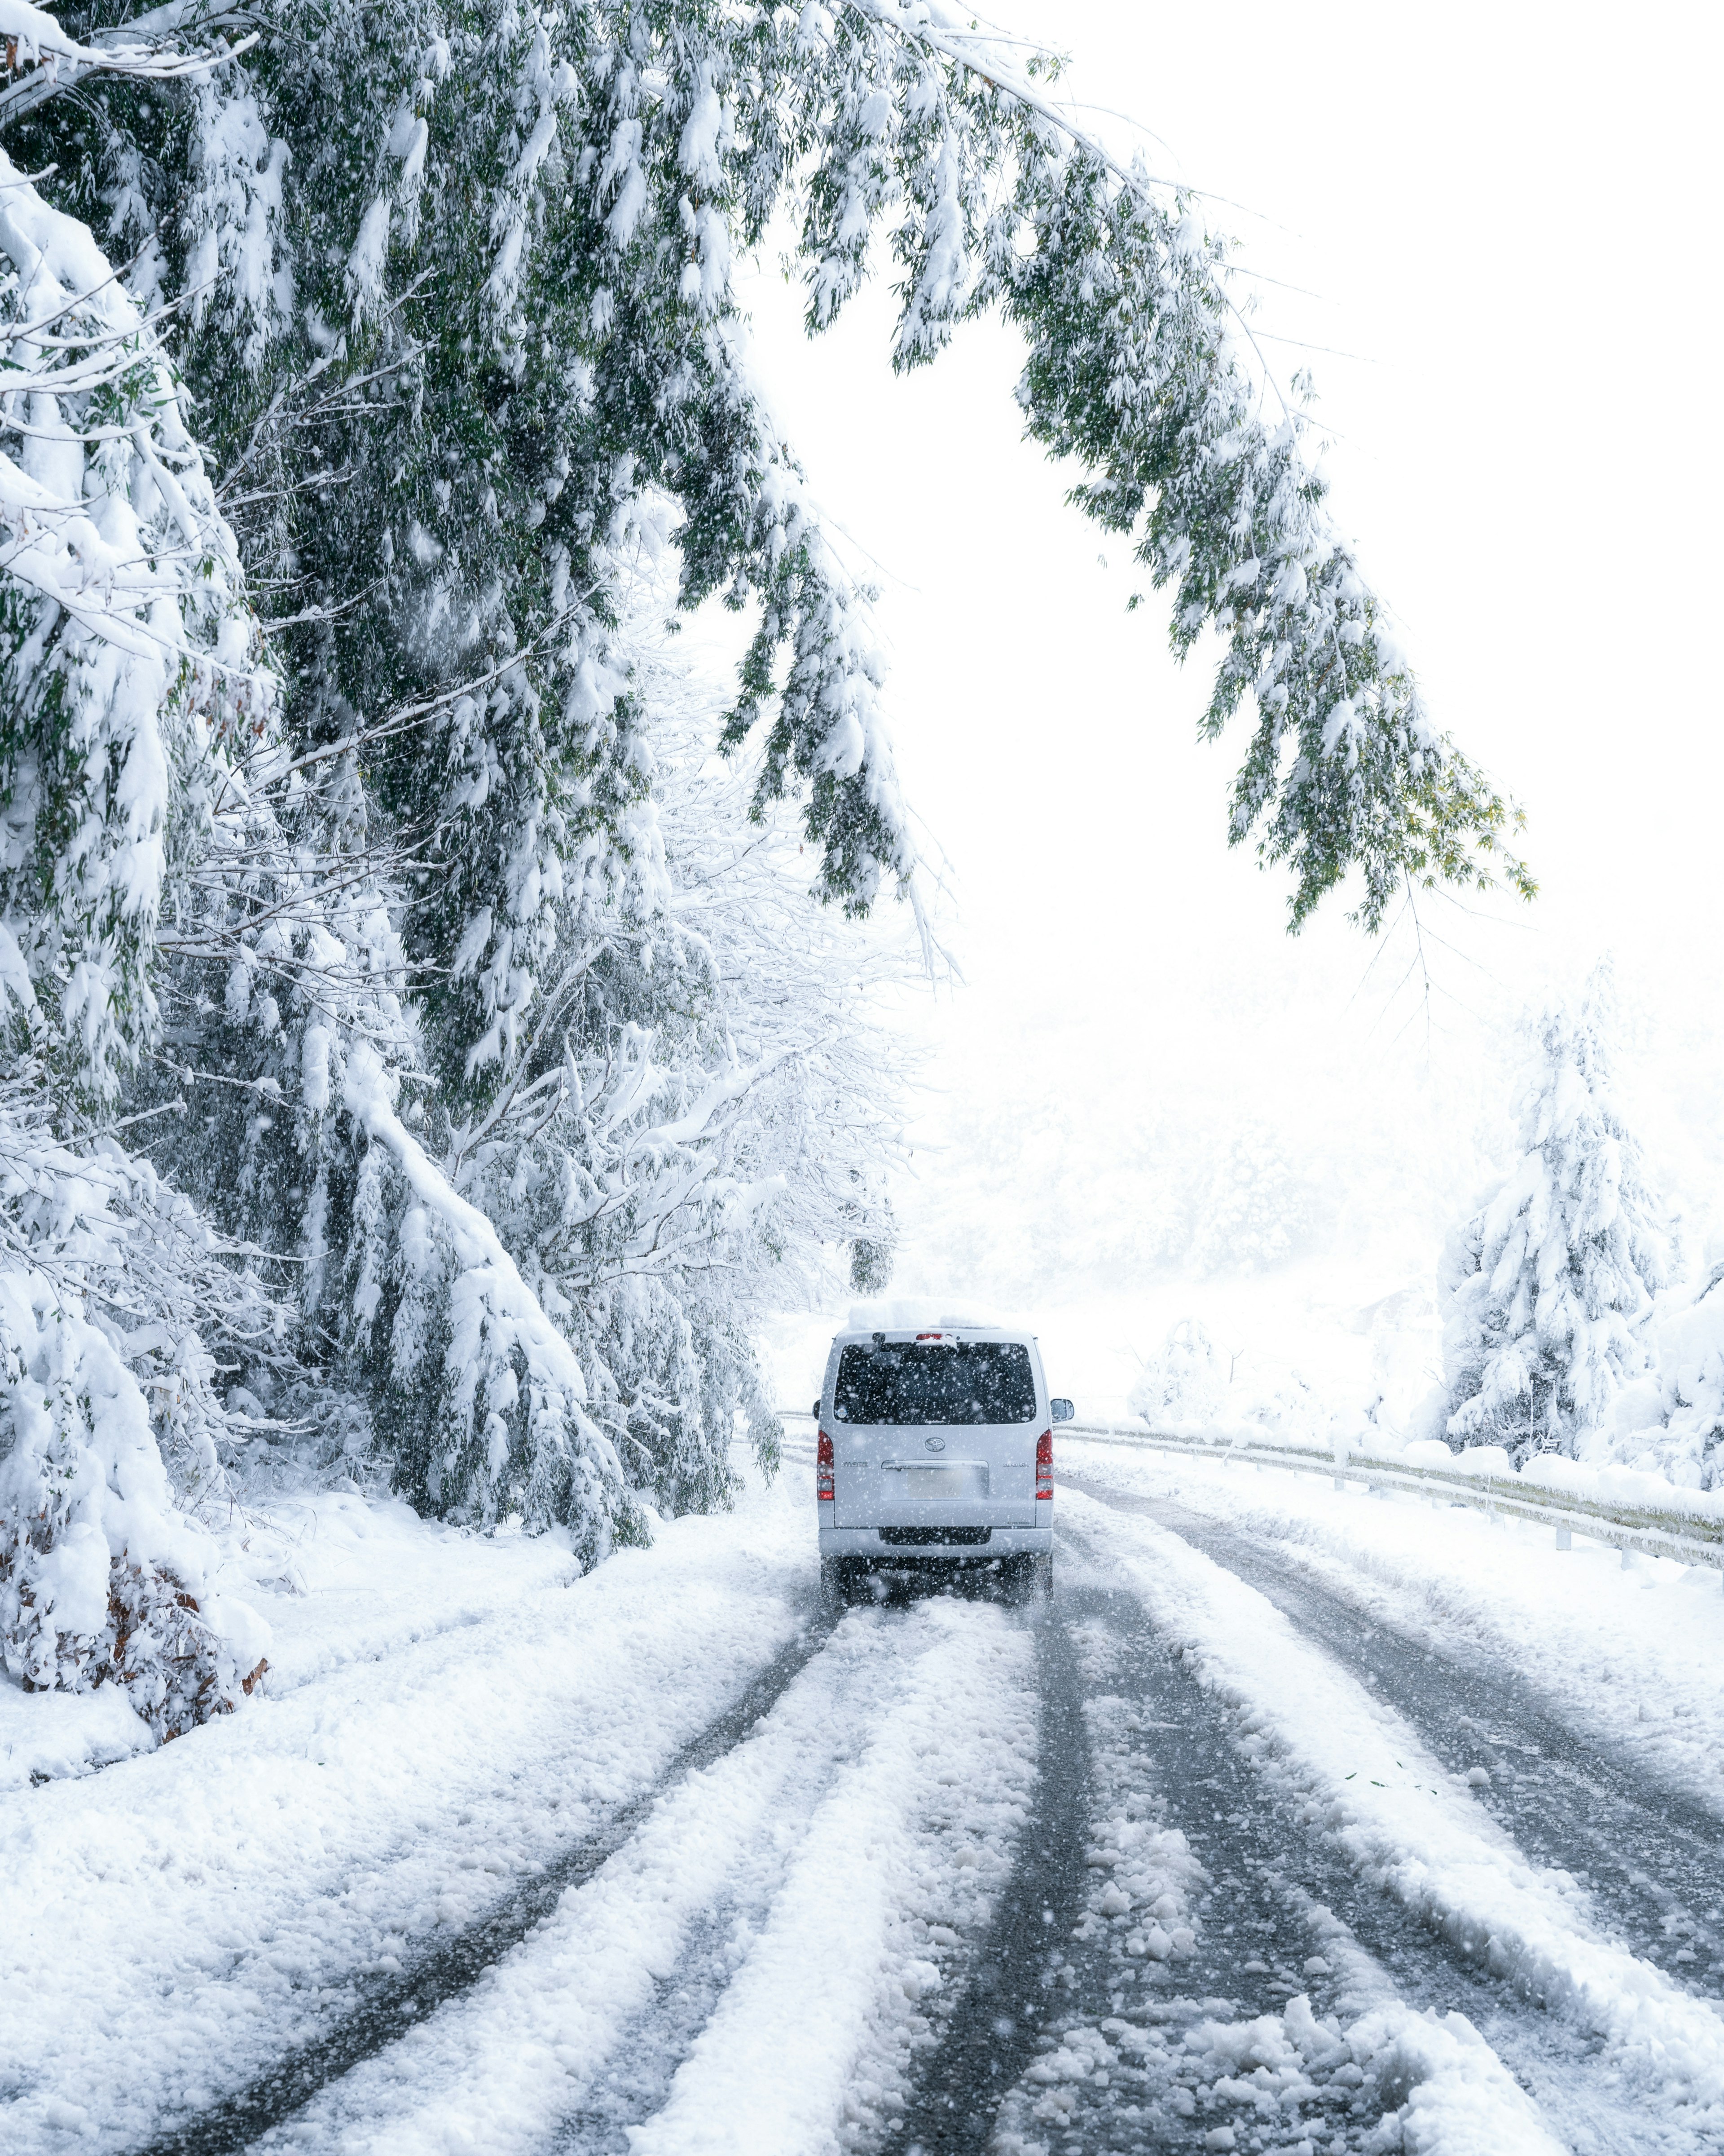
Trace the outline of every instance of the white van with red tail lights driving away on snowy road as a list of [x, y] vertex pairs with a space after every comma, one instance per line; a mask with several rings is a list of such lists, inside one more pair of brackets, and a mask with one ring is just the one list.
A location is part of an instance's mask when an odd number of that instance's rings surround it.
[[959, 1563], [1054, 1585], [1054, 1423], [1032, 1332], [942, 1319], [840, 1332], [815, 1401], [821, 1574]]

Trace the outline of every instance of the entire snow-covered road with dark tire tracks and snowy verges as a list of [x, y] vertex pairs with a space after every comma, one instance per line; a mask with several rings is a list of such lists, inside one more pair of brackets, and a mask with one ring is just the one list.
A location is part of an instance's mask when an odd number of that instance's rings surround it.
[[6, 2150], [1724, 2145], [1715, 1580], [1067, 1445], [1052, 1604], [830, 1611], [802, 1451], [319, 1514], [272, 1697], [0, 1800]]

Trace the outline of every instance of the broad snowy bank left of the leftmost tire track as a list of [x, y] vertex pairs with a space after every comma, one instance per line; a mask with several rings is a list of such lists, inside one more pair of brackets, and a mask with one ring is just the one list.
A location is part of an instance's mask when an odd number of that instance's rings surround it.
[[[649, 1787], [806, 1623], [808, 1509], [752, 1488], [586, 1578], [552, 1537], [358, 1498], [265, 1520], [263, 1570], [304, 1589], [265, 1598], [265, 1697], [0, 1807], [9, 2147], [209, 2102]], [[13, 1701], [43, 1746], [60, 1705]]]

